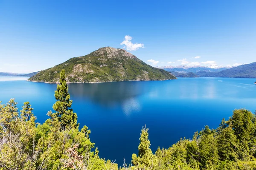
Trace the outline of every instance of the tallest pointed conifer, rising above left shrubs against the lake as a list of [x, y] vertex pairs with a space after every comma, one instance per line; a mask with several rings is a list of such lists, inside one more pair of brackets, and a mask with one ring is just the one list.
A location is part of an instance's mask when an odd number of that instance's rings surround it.
[[73, 101], [70, 100], [70, 94], [68, 93], [64, 69], [61, 70], [60, 84], [57, 85], [57, 90], [55, 91], [54, 96], [57, 101], [52, 108], [56, 111], [55, 114], [58, 117], [58, 121], [61, 122], [61, 128], [78, 127], [77, 115], [76, 113], [73, 113], [73, 109], [71, 109]]

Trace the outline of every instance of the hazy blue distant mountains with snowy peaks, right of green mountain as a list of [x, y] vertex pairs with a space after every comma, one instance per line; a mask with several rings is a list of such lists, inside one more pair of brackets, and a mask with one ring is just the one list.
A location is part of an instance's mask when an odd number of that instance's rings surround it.
[[[208, 68], [202, 66], [178, 66], [178, 67], [163, 67], [164, 70], [171, 72], [176, 77], [234, 77], [234, 78], [256, 78], [256, 62], [250, 64], [239, 65], [233, 68]], [[175, 73], [176, 72], [176, 73]], [[194, 73], [187, 74], [187, 73]], [[180, 73], [180, 74], [177, 74]], [[185, 75], [183, 75], [185, 74]]]

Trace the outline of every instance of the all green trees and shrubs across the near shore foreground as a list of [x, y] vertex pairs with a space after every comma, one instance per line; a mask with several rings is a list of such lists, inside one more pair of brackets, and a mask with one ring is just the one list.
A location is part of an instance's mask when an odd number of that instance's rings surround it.
[[256, 116], [245, 109], [234, 110], [217, 129], [205, 126], [192, 139], [180, 139], [155, 153], [150, 149], [149, 129], [144, 126], [138, 153], [132, 154], [130, 164], [106, 161], [99, 157], [97, 148], [92, 151], [95, 144], [90, 141], [88, 127], [79, 130], [66, 79], [62, 70], [54, 112], [47, 113], [49, 119], [42, 125], [35, 123], [29, 102], [24, 102], [20, 112], [14, 99], [0, 104], [0, 170], [256, 169]]

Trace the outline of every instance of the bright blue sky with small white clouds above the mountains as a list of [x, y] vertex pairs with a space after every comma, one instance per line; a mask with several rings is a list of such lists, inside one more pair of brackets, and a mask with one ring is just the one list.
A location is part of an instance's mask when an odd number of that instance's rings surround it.
[[255, 6], [256, 0], [0, 0], [0, 72], [44, 70], [105, 46], [125, 47], [153, 66], [255, 62]]

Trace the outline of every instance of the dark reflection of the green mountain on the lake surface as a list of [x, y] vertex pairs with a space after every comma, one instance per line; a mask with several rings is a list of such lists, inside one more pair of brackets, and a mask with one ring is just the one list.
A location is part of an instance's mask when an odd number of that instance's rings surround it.
[[119, 105], [149, 91], [145, 82], [77, 83], [69, 85], [73, 98], [89, 99], [101, 105]]

